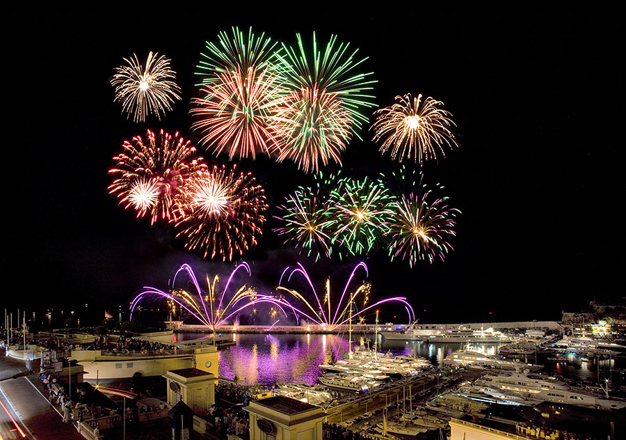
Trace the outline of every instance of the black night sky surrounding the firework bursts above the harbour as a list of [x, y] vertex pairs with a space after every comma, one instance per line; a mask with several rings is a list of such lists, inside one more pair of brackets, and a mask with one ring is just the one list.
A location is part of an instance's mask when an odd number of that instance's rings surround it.
[[[134, 219], [106, 187], [122, 141], [146, 128], [179, 131], [195, 143], [188, 117], [195, 65], [204, 41], [231, 26], [290, 44], [296, 32], [310, 40], [316, 31], [322, 42], [337, 33], [369, 56], [363, 70], [378, 80], [378, 106], [423, 93], [454, 115], [460, 148], [424, 165], [425, 182], [444, 184], [462, 211], [454, 251], [445, 262], [412, 269], [384, 251], [371, 254], [365, 261], [376, 297], [409, 297], [423, 322], [480, 322], [558, 320], [563, 309], [575, 311], [597, 294], [624, 292], [623, 15], [403, 10], [333, 14], [331, 21], [323, 14], [176, 10], [8, 22], [6, 306], [116, 309], [143, 285], [167, 288], [183, 262], [200, 276], [226, 272], [185, 251], [170, 226]], [[145, 59], [150, 50], [172, 60], [183, 99], [161, 123], [135, 124], [113, 102], [109, 81], [122, 57]], [[352, 141], [342, 157], [342, 173], [399, 169], [380, 157], [367, 127], [361, 134], [364, 141]], [[290, 162], [261, 157], [240, 167], [266, 188], [268, 217], [284, 196], [312, 182]], [[338, 290], [358, 260], [314, 263], [282, 247], [276, 225], [269, 220], [257, 249], [243, 257], [259, 290], [273, 288], [285, 265], [298, 261], [319, 288], [331, 276]], [[385, 319], [393, 313], [385, 311]]]

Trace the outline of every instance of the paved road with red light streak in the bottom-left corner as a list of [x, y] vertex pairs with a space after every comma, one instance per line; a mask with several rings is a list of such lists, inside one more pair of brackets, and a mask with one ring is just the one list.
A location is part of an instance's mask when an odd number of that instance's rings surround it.
[[[26, 370], [24, 363], [10, 359], [0, 352], [0, 379]], [[35, 384], [41, 384], [38, 375], [18, 377], [0, 382], [0, 400], [13, 409], [29, 439], [84, 440], [74, 423], [63, 423], [58, 409], [53, 407]]]

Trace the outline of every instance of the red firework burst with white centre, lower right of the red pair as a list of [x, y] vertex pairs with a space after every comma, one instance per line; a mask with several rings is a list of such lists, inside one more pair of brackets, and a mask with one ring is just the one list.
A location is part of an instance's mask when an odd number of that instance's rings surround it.
[[237, 172], [236, 165], [216, 165], [188, 180], [177, 203], [182, 212], [177, 237], [185, 237], [185, 246], [204, 257], [232, 261], [262, 235], [264, 190], [250, 173]]

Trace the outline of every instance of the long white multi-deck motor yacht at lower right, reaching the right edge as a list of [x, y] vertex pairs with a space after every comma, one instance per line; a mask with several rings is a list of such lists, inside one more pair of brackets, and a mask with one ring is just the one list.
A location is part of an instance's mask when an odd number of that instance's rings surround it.
[[[499, 375], [485, 375], [476, 381], [481, 393], [495, 395], [498, 398], [522, 398], [532, 401], [545, 401], [571, 404], [579, 407], [602, 409], [626, 408], [626, 400], [600, 397], [586, 389], [572, 388], [565, 382], [538, 374], [513, 372]], [[491, 392], [490, 392], [491, 390]]]

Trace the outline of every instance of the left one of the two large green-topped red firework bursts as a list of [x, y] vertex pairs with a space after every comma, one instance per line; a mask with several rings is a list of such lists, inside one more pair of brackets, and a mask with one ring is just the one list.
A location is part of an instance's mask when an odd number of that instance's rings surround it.
[[247, 38], [239, 29], [218, 34], [218, 43], [207, 42], [198, 72], [203, 97], [192, 100], [191, 128], [200, 143], [216, 154], [227, 150], [232, 159], [255, 158], [257, 152], [272, 155], [280, 150], [269, 123], [285, 95], [284, 65], [277, 43], [264, 34]]

